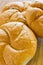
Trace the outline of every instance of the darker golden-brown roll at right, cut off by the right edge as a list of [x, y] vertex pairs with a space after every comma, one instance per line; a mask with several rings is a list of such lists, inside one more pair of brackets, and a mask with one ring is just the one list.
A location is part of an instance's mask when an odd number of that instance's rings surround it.
[[43, 3], [37, 1], [31, 3], [23, 15], [27, 25], [43, 38]]

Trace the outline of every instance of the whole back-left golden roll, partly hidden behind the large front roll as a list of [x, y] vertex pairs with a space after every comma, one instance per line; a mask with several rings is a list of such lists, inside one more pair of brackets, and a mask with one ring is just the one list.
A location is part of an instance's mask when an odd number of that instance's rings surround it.
[[9, 21], [25, 23], [26, 20], [22, 12], [27, 9], [29, 4], [28, 2], [11, 2], [6, 4], [0, 13], [0, 25]]

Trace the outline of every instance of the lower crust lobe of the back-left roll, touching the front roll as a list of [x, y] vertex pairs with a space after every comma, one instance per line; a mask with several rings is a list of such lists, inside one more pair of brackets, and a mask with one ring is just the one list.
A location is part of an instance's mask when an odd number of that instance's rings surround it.
[[23, 17], [22, 13], [16, 9], [9, 9], [0, 14], [0, 25], [12, 21], [19, 21], [25, 23], [25, 18]]

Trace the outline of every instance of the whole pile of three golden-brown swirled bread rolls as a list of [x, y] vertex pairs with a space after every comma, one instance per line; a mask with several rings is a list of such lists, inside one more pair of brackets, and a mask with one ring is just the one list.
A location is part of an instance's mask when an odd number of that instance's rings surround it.
[[43, 3], [11, 2], [0, 12], [0, 65], [27, 65], [43, 38]]

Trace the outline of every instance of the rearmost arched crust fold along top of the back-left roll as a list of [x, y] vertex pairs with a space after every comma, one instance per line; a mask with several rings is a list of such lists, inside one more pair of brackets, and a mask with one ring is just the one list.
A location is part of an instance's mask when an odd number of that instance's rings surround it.
[[17, 9], [19, 11], [24, 11], [28, 5], [30, 5], [30, 2], [24, 1], [24, 2], [11, 2], [4, 6], [2, 9], [2, 12], [8, 10], [8, 9]]

